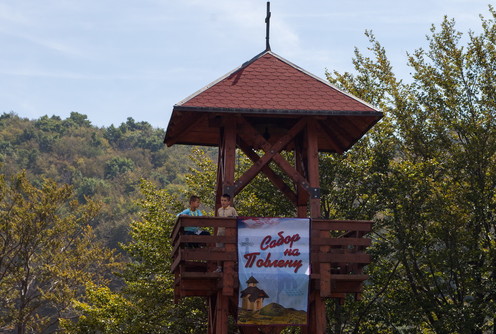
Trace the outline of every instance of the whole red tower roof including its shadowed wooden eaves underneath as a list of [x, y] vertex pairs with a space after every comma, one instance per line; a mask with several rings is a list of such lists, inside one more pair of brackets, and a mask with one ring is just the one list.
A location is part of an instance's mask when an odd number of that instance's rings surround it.
[[264, 51], [176, 104], [164, 142], [217, 146], [228, 115], [272, 134], [318, 116], [319, 151], [342, 153], [381, 119], [382, 112]]

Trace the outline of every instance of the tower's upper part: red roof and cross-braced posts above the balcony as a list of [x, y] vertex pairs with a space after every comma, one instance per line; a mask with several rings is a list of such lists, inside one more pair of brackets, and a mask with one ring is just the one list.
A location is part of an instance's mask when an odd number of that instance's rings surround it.
[[[176, 104], [165, 143], [219, 147], [217, 198], [235, 196], [263, 172], [297, 206], [299, 217], [307, 211], [319, 217], [318, 152], [343, 153], [381, 117], [374, 107], [266, 50]], [[236, 149], [253, 161], [238, 180]], [[286, 161], [283, 150], [293, 151], [296, 161]], [[296, 192], [270, 169], [271, 161]]]

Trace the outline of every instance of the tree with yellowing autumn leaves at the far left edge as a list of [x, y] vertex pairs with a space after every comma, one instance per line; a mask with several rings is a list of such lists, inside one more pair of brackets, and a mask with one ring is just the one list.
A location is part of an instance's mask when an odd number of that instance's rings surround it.
[[0, 176], [0, 331], [41, 333], [70, 317], [84, 283], [106, 282], [113, 253], [88, 225], [98, 205], [80, 205], [72, 189], [20, 173]]

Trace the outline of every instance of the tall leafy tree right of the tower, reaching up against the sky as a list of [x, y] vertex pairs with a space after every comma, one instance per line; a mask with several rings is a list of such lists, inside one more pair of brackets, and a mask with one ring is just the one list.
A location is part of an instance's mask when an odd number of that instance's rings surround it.
[[[408, 57], [410, 83], [396, 79], [370, 32], [373, 58], [356, 50], [357, 74], [328, 73], [386, 114], [333, 161], [333, 183], [325, 183], [377, 221], [371, 281], [364, 300], [342, 310], [340, 332], [496, 331], [496, 12], [489, 10], [482, 32], [469, 32], [465, 44], [454, 20], [433, 26], [429, 48]], [[347, 190], [336, 183], [343, 177], [355, 180]], [[357, 214], [347, 203], [330, 203], [327, 212]]]

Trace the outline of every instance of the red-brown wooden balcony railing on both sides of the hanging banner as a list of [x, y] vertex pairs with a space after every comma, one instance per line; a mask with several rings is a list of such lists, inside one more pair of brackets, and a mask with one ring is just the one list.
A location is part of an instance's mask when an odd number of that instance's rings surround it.
[[[187, 226], [210, 230], [211, 235], [184, 235]], [[365, 250], [371, 240], [364, 236], [372, 222], [312, 219], [311, 226], [312, 289], [324, 298], [344, 298], [348, 293], [359, 298], [368, 278], [363, 267], [370, 263]], [[219, 227], [226, 229], [224, 236], [216, 235]], [[219, 290], [224, 296], [235, 295], [239, 284], [235, 218], [181, 216], [171, 237], [176, 299], [214, 296]], [[216, 270], [219, 265], [221, 272]]]

